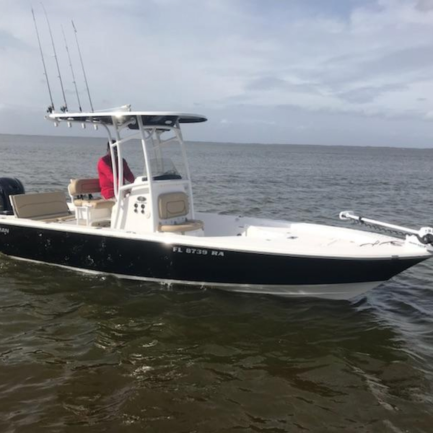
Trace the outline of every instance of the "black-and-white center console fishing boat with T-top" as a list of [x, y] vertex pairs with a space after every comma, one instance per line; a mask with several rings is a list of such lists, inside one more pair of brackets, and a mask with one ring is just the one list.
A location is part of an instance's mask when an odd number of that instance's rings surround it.
[[[205, 116], [126, 106], [50, 110], [45, 117], [56, 126], [105, 129], [114, 197], [97, 197], [99, 180], [92, 177], [71, 179], [69, 198], [64, 191], [26, 192], [18, 179], [1, 178], [0, 252], [10, 257], [162, 284], [350, 299], [433, 254], [431, 227], [410, 229], [352, 211], [340, 218], [360, 229], [196, 211], [181, 126]], [[120, 163], [126, 143], [143, 157], [142, 174], [130, 184]], [[183, 171], [167, 158], [174, 148]]]

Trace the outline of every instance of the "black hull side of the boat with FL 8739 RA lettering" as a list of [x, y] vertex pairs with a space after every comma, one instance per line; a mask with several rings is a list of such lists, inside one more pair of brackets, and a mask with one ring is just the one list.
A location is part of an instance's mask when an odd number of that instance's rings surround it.
[[143, 279], [264, 286], [385, 281], [427, 259], [281, 256], [11, 224], [0, 224], [0, 252]]

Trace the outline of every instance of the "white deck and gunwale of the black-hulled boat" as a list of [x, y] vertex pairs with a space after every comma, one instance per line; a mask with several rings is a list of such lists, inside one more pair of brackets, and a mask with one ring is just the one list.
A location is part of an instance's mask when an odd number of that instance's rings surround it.
[[427, 257], [431, 254], [426, 246], [420, 243], [407, 242], [404, 239], [381, 233], [212, 213], [197, 212], [196, 216], [204, 221], [204, 236], [177, 233], [138, 234], [110, 227], [77, 225], [74, 219], [62, 222], [41, 222], [14, 216], [0, 216], [0, 222], [19, 226], [49, 227], [59, 231], [99, 236], [196, 246], [197, 248], [304, 257], [380, 259]]

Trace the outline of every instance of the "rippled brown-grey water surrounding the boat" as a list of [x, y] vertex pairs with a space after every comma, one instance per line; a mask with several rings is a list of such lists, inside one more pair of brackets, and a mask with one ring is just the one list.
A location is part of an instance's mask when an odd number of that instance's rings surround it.
[[[103, 139], [0, 135], [0, 175], [66, 192], [104, 151]], [[430, 149], [187, 152], [198, 210], [433, 225]], [[294, 301], [1, 256], [0, 431], [431, 432], [432, 277], [430, 260], [351, 302]]]

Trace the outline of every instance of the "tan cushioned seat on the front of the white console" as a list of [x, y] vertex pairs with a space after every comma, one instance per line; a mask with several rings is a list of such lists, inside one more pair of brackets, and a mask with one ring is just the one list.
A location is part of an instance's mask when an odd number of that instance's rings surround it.
[[158, 212], [159, 218], [165, 220], [158, 226], [160, 232], [184, 233], [204, 228], [203, 221], [188, 220], [184, 217], [189, 213], [189, 200], [184, 192], [160, 194]]

